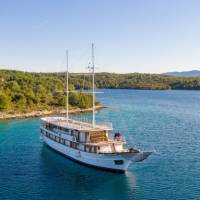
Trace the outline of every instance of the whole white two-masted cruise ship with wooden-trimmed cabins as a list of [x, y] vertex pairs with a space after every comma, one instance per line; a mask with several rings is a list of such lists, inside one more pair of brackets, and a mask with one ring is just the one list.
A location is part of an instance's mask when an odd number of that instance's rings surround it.
[[84, 165], [123, 173], [131, 163], [146, 159], [152, 152], [126, 148], [126, 141], [120, 135], [113, 138], [111, 123], [95, 122], [95, 87], [94, 87], [94, 46], [92, 44], [92, 94], [93, 117], [91, 123], [77, 121], [68, 115], [68, 53], [66, 116], [41, 118], [41, 136], [53, 150]]

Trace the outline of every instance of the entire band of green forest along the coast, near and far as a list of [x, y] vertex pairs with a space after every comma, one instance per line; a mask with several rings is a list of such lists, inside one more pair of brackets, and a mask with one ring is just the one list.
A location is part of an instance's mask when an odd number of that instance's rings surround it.
[[[87, 109], [92, 106], [92, 95], [83, 93], [91, 88], [88, 74], [70, 74], [69, 108]], [[158, 74], [96, 73], [97, 88], [199, 90], [200, 77], [174, 77]], [[0, 70], [0, 112], [30, 112], [62, 109], [65, 101], [65, 73], [34, 73]], [[96, 102], [99, 104], [99, 102]]]

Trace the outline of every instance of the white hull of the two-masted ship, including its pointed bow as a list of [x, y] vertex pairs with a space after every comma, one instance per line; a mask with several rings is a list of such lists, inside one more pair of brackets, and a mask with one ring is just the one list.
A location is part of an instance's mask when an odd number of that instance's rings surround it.
[[[125, 172], [131, 162], [139, 162], [146, 159], [151, 152], [139, 153], [115, 153], [115, 154], [98, 154], [80, 151], [78, 149], [70, 148], [66, 145], [60, 144], [54, 140], [42, 135], [43, 141], [52, 149], [61, 153], [62, 155], [92, 167], [102, 168], [115, 172]], [[116, 164], [116, 160], [123, 160], [123, 164]]]

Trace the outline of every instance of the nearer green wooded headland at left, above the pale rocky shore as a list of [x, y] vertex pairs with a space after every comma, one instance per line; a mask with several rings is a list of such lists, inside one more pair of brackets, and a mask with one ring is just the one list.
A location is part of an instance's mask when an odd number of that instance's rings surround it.
[[[65, 81], [55, 74], [0, 70], [0, 111], [30, 112], [66, 106]], [[77, 82], [78, 84], [78, 82]], [[69, 85], [74, 90], [74, 85]], [[69, 93], [70, 108], [92, 106], [91, 94]]]

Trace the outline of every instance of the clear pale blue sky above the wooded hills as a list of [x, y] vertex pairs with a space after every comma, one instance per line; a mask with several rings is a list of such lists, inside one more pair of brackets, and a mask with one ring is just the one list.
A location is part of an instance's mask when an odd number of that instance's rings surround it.
[[0, 0], [0, 69], [200, 69], [199, 0]]

